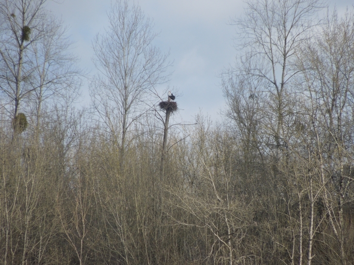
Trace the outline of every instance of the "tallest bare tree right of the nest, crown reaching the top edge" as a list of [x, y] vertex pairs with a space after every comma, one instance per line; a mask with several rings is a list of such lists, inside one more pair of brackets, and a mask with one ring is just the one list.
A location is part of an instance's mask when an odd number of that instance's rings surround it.
[[289, 113], [289, 82], [297, 73], [294, 55], [314, 25], [311, 16], [322, 7], [321, 0], [249, 0], [245, 16], [232, 21], [239, 26], [245, 52], [223, 77], [241, 75], [251, 79], [248, 83], [258, 83], [251, 93], [267, 99], [265, 122], [277, 157], [286, 134], [283, 123]]

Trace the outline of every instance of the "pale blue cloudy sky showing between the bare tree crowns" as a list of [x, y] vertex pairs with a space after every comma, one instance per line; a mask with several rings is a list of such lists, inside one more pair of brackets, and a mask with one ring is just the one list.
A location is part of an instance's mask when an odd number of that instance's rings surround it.
[[[212, 121], [222, 119], [225, 99], [220, 86], [220, 73], [235, 62], [237, 51], [233, 37], [236, 26], [232, 18], [243, 13], [242, 0], [139, 0], [135, 1], [145, 16], [153, 20], [159, 35], [154, 44], [162, 52], [170, 52], [173, 62], [170, 81], [160, 89], [170, 87], [177, 94], [179, 120], [193, 121], [199, 112]], [[338, 13], [353, 0], [331, 0]], [[72, 52], [80, 58], [79, 66], [90, 75], [96, 73], [92, 62], [92, 40], [108, 28], [107, 12], [111, 0], [48, 1], [47, 8], [63, 20], [74, 42]], [[80, 104], [90, 102], [88, 80], [82, 86]]]

